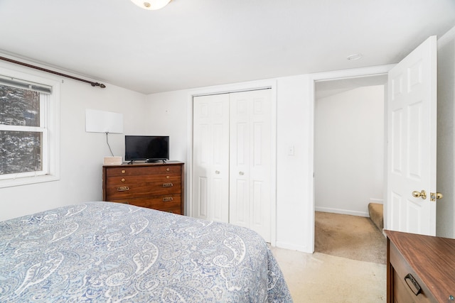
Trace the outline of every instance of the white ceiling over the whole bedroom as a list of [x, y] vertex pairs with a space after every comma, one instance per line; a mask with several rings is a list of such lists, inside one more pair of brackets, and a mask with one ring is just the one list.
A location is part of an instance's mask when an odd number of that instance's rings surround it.
[[0, 53], [151, 94], [396, 63], [453, 26], [454, 0], [0, 0]]

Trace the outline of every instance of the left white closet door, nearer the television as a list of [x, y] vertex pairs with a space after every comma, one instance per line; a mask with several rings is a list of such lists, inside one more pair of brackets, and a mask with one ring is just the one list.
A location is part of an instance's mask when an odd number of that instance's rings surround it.
[[193, 217], [229, 221], [229, 94], [193, 99]]

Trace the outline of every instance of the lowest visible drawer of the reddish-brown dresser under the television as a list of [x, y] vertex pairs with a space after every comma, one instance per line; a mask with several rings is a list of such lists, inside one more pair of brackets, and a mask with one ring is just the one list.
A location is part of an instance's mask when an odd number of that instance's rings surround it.
[[126, 203], [130, 205], [146, 207], [149, 209], [158, 209], [161, 211], [172, 212], [173, 214], [181, 214], [181, 195], [166, 194], [155, 197], [141, 197], [130, 199], [115, 199], [112, 202]]

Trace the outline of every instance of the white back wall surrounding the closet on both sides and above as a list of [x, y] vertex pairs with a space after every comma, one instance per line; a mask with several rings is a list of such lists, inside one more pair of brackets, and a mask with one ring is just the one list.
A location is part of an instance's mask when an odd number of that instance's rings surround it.
[[[277, 246], [309, 251], [309, 238], [313, 236], [311, 211], [312, 200], [308, 199], [311, 184], [312, 164], [309, 162], [308, 81], [306, 75], [269, 79], [276, 83], [277, 90]], [[229, 84], [219, 87], [182, 90], [148, 96], [147, 128], [151, 133], [166, 133], [171, 136], [171, 159], [186, 162], [186, 212], [191, 165], [191, 117], [192, 94], [201, 92], [229, 92], [245, 87], [262, 86], [262, 82]], [[294, 155], [287, 155], [289, 146], [294, 146]], [[311, 165], [311, 167], [309, 167]]]

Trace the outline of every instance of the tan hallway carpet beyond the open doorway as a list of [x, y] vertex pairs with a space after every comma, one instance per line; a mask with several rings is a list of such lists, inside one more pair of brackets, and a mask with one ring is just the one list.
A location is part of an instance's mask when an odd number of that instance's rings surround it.
[[385, 236], [369, 218], [316, 211], [315, 252], [385, 264], [386, 249]]

